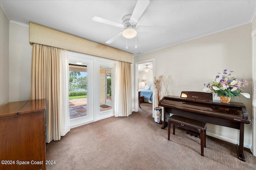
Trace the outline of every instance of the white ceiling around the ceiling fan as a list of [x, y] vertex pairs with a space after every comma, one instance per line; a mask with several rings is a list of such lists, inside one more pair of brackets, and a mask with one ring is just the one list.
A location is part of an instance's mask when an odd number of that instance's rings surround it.
[[252, 22], [256, 1], [252, 0], [150, 0], [137, 26], [162, 26], [160, 32], [138, 32], [135, 38], [110, 38], [123, 28], [92, 21], [93, 16], [122, 23], [132, 14], [136, 0], [0, 0], [7, 18], [14, 23], [38, 23], [116, 49], [140, 55], [184, 41]]

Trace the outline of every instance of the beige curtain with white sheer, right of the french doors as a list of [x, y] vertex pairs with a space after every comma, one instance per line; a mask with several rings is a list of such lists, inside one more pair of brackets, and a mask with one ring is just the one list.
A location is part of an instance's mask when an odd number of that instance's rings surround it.
[[116, 61], [115, 116], [132, 114], [131, 64]]

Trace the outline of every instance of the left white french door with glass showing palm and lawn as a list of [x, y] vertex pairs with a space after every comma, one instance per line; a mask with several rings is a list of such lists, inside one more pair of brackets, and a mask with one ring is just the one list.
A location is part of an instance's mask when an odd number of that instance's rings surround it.
[[69, 52], [69, 109], [70, 127], [94, 120], [93, 60], [85, 55]]

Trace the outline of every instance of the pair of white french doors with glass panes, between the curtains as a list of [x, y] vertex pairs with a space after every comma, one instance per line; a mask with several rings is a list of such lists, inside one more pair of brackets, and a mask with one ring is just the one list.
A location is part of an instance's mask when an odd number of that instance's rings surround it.
[[68, 54], [70, 128], [113, 116], [115, 61], [75, 52]]

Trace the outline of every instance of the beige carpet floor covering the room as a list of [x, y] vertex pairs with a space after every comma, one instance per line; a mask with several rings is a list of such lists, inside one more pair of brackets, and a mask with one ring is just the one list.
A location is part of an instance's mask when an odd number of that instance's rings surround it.
[[110, 117], [70, 130], [60, 141], [46, 145], [47, 170], [256, 170], [256, 156], [244, 149], [246, 162], [237, 158], [236, 145], [210, 136], [204, 156], [200, 139], [176, 128], [154, 123], [152, 104], [142, 103], [129, 117]]

